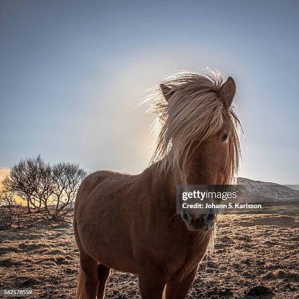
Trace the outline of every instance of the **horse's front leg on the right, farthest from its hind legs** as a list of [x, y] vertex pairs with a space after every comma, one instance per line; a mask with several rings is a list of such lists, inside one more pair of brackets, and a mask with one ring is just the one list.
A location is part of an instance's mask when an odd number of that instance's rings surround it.
[[196, 276], [197, 266], [192, 272], [182, 279], [182, 277], [175, 276], [171, 278], [166, 285], [165, 299], [184, 299], [192, 285]]

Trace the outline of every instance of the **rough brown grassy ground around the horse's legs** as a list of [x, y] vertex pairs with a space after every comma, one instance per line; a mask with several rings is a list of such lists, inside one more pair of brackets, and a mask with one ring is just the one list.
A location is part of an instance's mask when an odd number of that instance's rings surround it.
[[[297, 213], [222, 216], [212, 256], [202, 261], [187, 298], [299, 298], [298, 241]], [[77, 275], [72, 214], [65, 223], [0, 232], [0, 289], [74, 298]], [[112, 271], [106, 298], [140, 298], [137, 278]]]

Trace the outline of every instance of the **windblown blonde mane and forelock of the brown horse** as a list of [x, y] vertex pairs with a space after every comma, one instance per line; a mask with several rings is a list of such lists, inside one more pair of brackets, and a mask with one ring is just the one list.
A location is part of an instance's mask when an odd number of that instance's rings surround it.
[[150, 89], [143, 103], [149, 104], [148, 112], [156, 114], [153, 130], [157, 133], [156, 149], [150, 164], [158, 162], [157, 174], [165, 171], [178, 173], [181, 184], [186, 183], [183, 167], [190, 153], [191, 145], [199, 145], [215, 134], [223, 125], [223, 118], [229, 117], [232, 125], [229, 163], [226, 184], [231, 184], [238, 170], [240, 126], [234, 108], [225, 111], [217, 93], [222, 85], [222, 76], [209, 70], [205, 74], [180, 71], [167, 78], [164, 85], [171, 88], [168, 101], [160, 85]]

